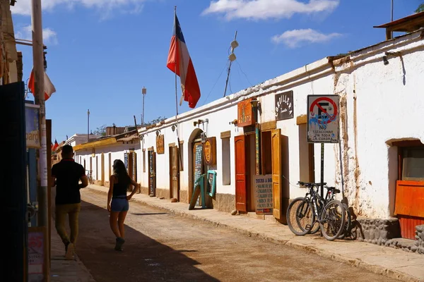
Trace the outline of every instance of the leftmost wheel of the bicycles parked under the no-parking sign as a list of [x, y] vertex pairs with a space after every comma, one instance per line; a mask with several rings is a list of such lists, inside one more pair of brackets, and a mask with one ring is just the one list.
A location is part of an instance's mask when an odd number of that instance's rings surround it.
[[[314, 222], [313, 217], [305, 216], [303, 212], [307, 212], [307, 207], [309, 207], [309, 202], [305, 200], [304, 197], [298, 197], [293, 202], [288, 205], [287, 209], [287, 225], [295, 235], [305, 235], [309, 232], [307, 229], [307, 224], [312, 226]], [[313, 209], [312, 209], [313, 210]], [[306, 222], [303, 225], [303, 222]], [[300, 227], [299, 222], [301, 222], [303, 228]]]

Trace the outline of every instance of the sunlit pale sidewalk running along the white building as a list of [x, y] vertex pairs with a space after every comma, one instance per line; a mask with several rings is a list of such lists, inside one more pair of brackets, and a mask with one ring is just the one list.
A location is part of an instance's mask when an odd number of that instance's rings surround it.
[[[89, 185], [88, 188], [105, 193], [106, 197], [107, 188], [98, 185]], [[424, 282], [424, 255], [358, 241], [338, 240], [331, 242], [314, 235], [295, 236], [288, 226], [273, 221], [254, 219], [249, 216], [232, 216], [214, 209], [189, 211], [188, 204], [172, 203], [170, 200], [160, 200], [148, 195], [136, 194], [131, 201], [165, 209], [178, 216], [229, 228], [245, 235], [314, 252], [322, 257], [345, 262], [390, 278], [397, 278], [401, 281]]]

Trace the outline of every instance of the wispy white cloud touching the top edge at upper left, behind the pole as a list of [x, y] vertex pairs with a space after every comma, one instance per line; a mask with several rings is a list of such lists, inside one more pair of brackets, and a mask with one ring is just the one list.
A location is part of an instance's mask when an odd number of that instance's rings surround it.
[[[81, 5], [86, 8], [95, 8], [102, 13], [102, 18], [107, 17], [112, 11], [126, 11], [139, 13], [146, 0], [43, 0], [43, 11], [53, 11], [57, 6], [73, 8]], [[15, 6], [11, 6], [11, 11], [16, 15], [31, 15], [31, 0], [20, 0]]]

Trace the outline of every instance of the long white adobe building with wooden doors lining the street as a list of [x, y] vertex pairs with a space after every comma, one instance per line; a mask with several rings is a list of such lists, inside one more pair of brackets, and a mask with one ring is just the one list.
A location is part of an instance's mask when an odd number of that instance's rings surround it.
[[[136, 168], [131, 173], [142, 192], [186, 203], [192, 197], [194, 176], [214, 171], [216, 193], [212, 199], [206, 195], [206, 204], [225, 212], [255, 212], [253, 183], [259, 169], [259, 174], [272, 178], [273, 217], [284, 223], [289, 200], [305, 195], [298, 180], [320, 180], [320, 145], [307, 142], [307, 95], [337, 94], [340, 142], [325, 145], [325, 182], [343, 190], [358, 216], [389, 220], [386, 225], [397, 216], [401, 228], [410, 221], [424, 224], [424, 207], [416, 202], [424, 197], [424, 129], [412, 122], [420, 121], [424, 106], [423, 61], [423, 32], [418, 30], [343, 57], [326, 57], [178, 119], [141, 128], [140, 142], [96, 147], [95, 141], [90, 145], [95, 152], [77, 147], [77, 161], [95, 156], [93, 171], [98, 171], [98, 154], [124, 160], [125, 153], [135, 152]], [[277, 120], [279, 106], [293, 114]], [[252, 123], [240, 126], [242, 113], [250, 113]], [[211, 165], [204, 156], [206, 140], [216, 147]], [[196, 160], [196, 152], [200, 159]], [[108, 178], [109, 173], [105, 166], [95, 179], [103, 174]], [[396, 224], [399, 227], [397, 220]], [[402, 229], [402, 236], [410, 238], [408, 232]]]

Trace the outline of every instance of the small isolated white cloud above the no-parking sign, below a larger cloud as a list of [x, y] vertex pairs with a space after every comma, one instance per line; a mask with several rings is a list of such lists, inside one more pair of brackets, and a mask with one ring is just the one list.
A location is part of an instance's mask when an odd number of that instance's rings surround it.
[[325, 35], [324, 33], [308, 28], [307, 30], [288, 30], [282, 35], [273, 36], [271, 40], [276, 44], [283, 43], [290, 48], [295, 48], [299, 47], [302, 43], [310, 44], [327, 42], [334, 37], [339, 36], [341, 36], [340, 33], [333, 32]]

